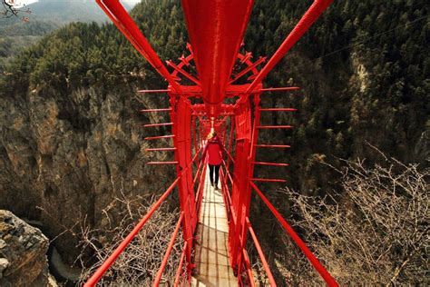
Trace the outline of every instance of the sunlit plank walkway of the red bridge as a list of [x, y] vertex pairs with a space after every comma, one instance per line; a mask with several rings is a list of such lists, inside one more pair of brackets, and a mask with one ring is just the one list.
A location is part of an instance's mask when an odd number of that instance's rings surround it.
[[[220, 185], [220, 183], [218, 183]], [[229, 263], [229, 225], [221, 191], [210, 186], [206, 173], [194, 262], [192, 286], [238, 286]]]

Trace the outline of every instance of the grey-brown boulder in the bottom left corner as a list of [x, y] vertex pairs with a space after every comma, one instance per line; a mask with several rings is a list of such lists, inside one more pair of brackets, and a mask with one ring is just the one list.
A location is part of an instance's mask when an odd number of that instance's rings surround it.
[[0, 286], [47, 286], [48, 245], [40, 230], [0, 210]]

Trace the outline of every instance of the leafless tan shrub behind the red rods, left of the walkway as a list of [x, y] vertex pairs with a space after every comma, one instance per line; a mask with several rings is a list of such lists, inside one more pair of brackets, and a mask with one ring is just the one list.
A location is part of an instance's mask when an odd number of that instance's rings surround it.
[[[82, 241], [79, 248], [83, 250], [79, 260], [87, 264], [88, 252], [93, 253], [93, 266], [83, 271], [82, 281], [88, 279], [112, 253], [120, 242], [130, 233], [134, 225], [151, 206], [152, 200], [141, 196], [121, 198], [109, 204], [104, 210], [104, 230], [94, 230], [83, 224]], [[120, 219], [120, 223], [114, 224]], [[120, 255], [112, 267], [106, 272], [101, 283], [103, 285], [120, 286], [149, 286], [159, 271], [161, 259], [171, 239], [171, 233], [179, 217], [178, 211], [169, 211], [168, 205], [163, 203], [153, 213], [151, 219], [145, 224], [142, 231], [136, 236], [127, 249]], [[182, 235], [178, 238], [169, 257], [168, 264], [163, 272], [162, 283], [170, 285], [174, 281], [176, 270], [181, 258], [183, 246]]]

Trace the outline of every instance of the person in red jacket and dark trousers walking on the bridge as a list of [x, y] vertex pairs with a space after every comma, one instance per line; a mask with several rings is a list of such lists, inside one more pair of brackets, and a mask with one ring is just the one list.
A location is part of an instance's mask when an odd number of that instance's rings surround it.
[[[203, 158], [208, 156], [209, 171], [210, 171], [210, 185], [212, 185], [215, 190], [218, 190], [218, 179], [220, 178], [220, 166], [222, 163], [222, 153], [226, 153], [224, 145], [220, 142], [220, 138], [215, 132], [210, 132], [207, 138], [203, 150]], [[215, 174], [214, 174], [215, 173]], [[214, 179], [215, 175], [215, 179]]]

